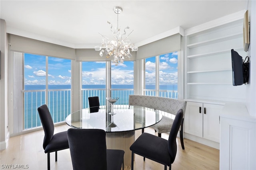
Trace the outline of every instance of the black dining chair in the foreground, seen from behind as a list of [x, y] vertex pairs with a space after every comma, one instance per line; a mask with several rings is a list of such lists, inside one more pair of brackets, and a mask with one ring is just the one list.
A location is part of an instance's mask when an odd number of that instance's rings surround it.
[[68, 143], [73, 170], [124, 170], [124, 150], [106, 149], [102, 129], [68, 129]]

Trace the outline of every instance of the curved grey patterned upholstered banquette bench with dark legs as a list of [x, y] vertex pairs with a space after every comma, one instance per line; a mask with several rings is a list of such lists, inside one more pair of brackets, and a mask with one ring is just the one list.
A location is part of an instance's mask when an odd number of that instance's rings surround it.
[[[158, 109], [158, 110], [170, 113], [172, 115], [176, 115], [179, 109], [182, 109], [183, 113], [185, 113], [186, 111], [186, 101], [172, 99], [172, 98], [156, 97], [156, 96], [130, 95], [129, 105], [144, 106], [152, 109]], [[181, 143], [182, 149], [185, 149], [184, 142], [183, 142], [184, 115], [183, 115], [182, 123], [180, 125], [180, 143]], [[173, 121], [174, 119], [163, 115], [162, 120], [156, 123], [155, 125], [152, 125], [151, 127], [154, 128], [155, 131], [158, 133], [158, 136], [161, 137], [161, 133], [170, 132]]]

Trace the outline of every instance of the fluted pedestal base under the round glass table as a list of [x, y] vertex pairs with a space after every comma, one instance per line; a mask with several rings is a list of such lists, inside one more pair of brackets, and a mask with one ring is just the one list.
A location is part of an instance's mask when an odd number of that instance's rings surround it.
[[132, 151], [130, 146], [135, 141], [135, 131], [106, 133], [107, 149], [124, 150], [124, 168], [131, 167]]

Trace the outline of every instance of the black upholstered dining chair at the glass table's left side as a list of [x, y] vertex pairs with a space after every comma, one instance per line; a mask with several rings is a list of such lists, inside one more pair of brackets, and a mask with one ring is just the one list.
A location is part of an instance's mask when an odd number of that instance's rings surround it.
[[57, 162], [57, 151], [69, 148], [67, 131], [54, 134], [52, 116], [46, 104], [38, 107], [37, 110], [44, 128], [43, 148], [47, 153], [47, 169], [50, 170], [50, 152], [55, 152], [55, 162]]

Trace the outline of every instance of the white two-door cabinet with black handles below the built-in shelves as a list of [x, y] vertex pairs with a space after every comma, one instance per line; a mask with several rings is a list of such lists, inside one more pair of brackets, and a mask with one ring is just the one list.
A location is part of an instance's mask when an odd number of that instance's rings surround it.
[[187, 102], [185, 132], [220, 142], [220, 110], [223, 105]]

